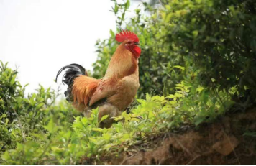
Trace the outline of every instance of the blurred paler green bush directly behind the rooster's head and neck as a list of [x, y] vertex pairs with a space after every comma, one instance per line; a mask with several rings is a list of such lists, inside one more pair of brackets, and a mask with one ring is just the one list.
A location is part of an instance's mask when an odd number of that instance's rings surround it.
[[[145, 93], [158, 95], [174, 93], [173, 87], [183, 79], [183, 75], [180, 73], [184, 73], [184, 71], [178, 68], [182, 68], [180, 65], [184, 66], [184, 62], [180, 55], [170, 51], [171, 43], [159, 40], [161, 25], [158, 18], [153, 16], [157, 11], [148, 9], [152, 16], [142, 19], [141, 10], [137, 9], [135, 11], [137, 17], [132, 18], [130, 22], [125, 22], [128, 9], [129, 1], [124, 4], [118, 4], [115, 1], [113, 12], [117, 17], [117, 29], [129, 29], [140, 38], [142, 55], [140, 56], [140, 90], [138, 97], [145, 96]], [[124, 27], [123, 24], [126, 26]], [[93, 64], [93, 77], [95, 78], [104, 76], [111, 55], [116, 50], [115, 33], [112, 30], [110, 33], [111, 37], [108, 40], [99, 40], [96, 43], [99, 55], [98, 60]], [[178, 68], [175, 68], [177, 65], [179, 65]]]

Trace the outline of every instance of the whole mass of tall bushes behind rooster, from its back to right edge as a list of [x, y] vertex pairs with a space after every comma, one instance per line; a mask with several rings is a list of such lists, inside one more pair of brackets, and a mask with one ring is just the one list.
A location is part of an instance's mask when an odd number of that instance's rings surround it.
[[[145, 93], [168, 95], [185, 79], [237, 96], [256, 94], [256, 2], [254, 0], [162, 1], [156, 9], [144, 3], [149, 16], [125, 20], [129, 1], [118, 4], [114, 13], [119, 29], [130, 29], [140, 38], [140, 97]], [[125, 23], [125, 25], [124, 25]], [[99, 57], [94, 76], [104, 75], [114, 53], [111, 38], [97, 43]], [[183, 66], [184, 70], [175, 69]]]

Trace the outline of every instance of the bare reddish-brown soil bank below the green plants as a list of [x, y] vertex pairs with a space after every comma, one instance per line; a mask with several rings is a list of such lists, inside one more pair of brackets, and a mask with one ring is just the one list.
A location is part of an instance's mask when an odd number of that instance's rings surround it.
[[[211, 124], [183, 126], [152, 136], [118, 156], [92, 165], [256, 165], [256, 109], [229, 114]], [[99, 163], [100, 162], [100, 163]]]

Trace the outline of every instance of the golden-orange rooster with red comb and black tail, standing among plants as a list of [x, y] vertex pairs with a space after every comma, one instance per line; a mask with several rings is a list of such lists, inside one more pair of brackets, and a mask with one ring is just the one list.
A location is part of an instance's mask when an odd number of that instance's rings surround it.
[[60, 69], [63, 83], [68, 85], [65, 96], [67, 101], [81, 111], [85, 116], [91, 116], [91, 109], [99, 107], [99, 127], [109, 128], [114, 123], [114, 117], [122, 114], [134, 101], [139, 83], [138, 59], [140, 57], [139, 38], [136, 34], [123, 31], [116, 34], [116, 41], [121, 44], [111, 57], [104, 78], [88, 77], [86, 70], [77, 64], [67, 65]]

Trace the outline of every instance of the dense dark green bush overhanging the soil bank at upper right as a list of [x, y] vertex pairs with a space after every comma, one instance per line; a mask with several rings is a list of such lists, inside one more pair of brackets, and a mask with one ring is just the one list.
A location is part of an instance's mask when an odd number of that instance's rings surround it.
[[253, 0], [170, 1], [161, 11], [164, 42], [191, 59], [204, 86], [236, 86], [256, 97], [255, 6]]

